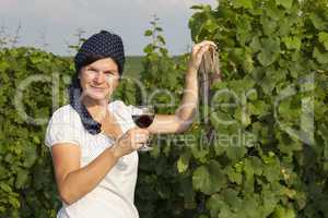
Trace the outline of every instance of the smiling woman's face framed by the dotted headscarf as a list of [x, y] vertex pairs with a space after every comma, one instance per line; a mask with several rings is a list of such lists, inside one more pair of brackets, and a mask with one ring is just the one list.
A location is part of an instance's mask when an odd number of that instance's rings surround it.
[[119, 83], [118, 65], [112, 58], [97, 60], [80, 71], [83, 95], [94, 99], [109, 99]]

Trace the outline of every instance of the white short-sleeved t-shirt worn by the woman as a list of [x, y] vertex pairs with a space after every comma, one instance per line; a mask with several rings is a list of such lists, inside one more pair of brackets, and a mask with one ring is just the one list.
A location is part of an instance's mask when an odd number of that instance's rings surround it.
[[[122, 132], [136, 124], [131, 118], [132, 106], [120, 100], [108, 104]], [[57, 143], [73, 143], [81, 148], [81, 167], [86, 166], [114, 141], [99, 133], [90, 134], [83, 126], [79, 113], [70, 106], [56, 110], [48, 123], [45, 144], [50, 148]], [[138, 218], [133, 204], [138, 171], [138, 153], [124, 156], [109, 170], [101, 183], [78, 202], [66, 205], [57, 214], [57, 218]]]

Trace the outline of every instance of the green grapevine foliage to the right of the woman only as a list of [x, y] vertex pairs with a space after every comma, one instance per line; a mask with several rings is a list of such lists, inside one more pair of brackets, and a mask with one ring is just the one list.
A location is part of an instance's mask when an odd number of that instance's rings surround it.
[[[143, 217], [327, 217], [328, 2], [222, 0], [216, 9], [194, 9], [194, 41], [214, 40], [221, 49], [223, 82], [211, 90], [230, 93], [200, 107], [186, 133], [196, 142], [162, 137], [141, 161]], [[147, 32], [157, 40], [144, 50], [141, 77], [149, 90], [174, 87], [179, 95], [186, 62], [173, 63], [159, 32]], [[204, 138], [210, 130], [219, 140]], [[256, 141], [224, 140], [238, 133]]]

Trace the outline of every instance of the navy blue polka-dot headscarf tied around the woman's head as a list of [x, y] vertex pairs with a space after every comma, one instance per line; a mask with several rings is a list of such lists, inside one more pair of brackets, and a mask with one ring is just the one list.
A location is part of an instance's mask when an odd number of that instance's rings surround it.
[[77, 72], [69, 86], [70, 105], [80, 114], [85, 130], [93, 135], [101, 132], [102, 125], [92, 118], [86, 107], [82, 104], [83, 90], [80, 84], [79, 73], [82, 66], [91, 64], [92, 62], [103, 58], [112, 58], [118, 65], [119, 74], [122, 74], [125, 51], [122, 40], [118, 35], [101, 31], [83, 43], [79, 52], [74, 57]]

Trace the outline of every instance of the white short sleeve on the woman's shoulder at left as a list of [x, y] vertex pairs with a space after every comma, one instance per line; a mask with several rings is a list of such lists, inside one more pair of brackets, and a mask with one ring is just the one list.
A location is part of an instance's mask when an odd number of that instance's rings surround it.
[[81, 145], [81, 125], [79, 114], [70, 106], [59, 108], [49, 120], [45, 136], [46, 146], [51, 147], [58, 143]]

